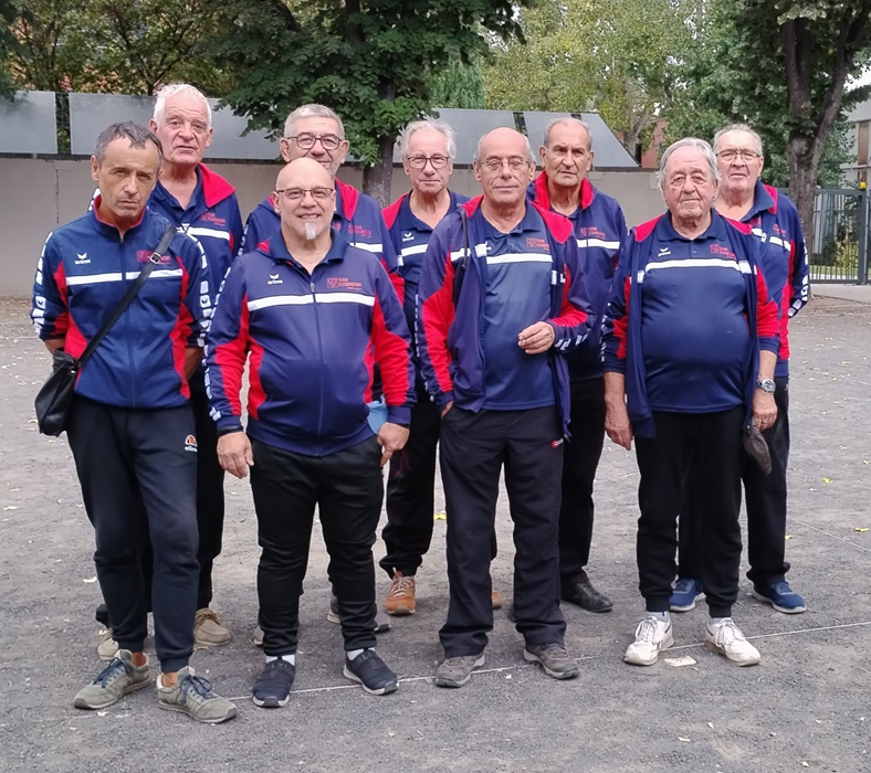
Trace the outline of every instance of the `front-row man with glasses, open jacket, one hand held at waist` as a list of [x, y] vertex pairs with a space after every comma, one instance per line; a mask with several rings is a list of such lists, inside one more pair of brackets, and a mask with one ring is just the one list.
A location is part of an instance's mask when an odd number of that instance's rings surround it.
[[490, 557], [499, 478], [514, 520], [514, 615], [524, 656], [578, 675], [559, 610], [559, 500], [569, 420], [562, 352], [586, 337], [589, 306], [571, 224], [526, 201], [529, 142], [502, 128], [475, 153], [483, 197], [436, 227], [418, 290], [418, 353], [442, 414], [451, 596], [436, 684], [461, 687], [493, 627]]

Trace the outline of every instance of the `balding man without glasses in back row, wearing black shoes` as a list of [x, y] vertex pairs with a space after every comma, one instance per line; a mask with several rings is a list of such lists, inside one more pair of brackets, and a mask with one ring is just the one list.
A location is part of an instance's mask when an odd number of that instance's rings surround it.
[[[592, 165], [589, 127], [577, 118], [557, 118], [545, 129], [539, 149], [544, 170], [527, 195], [570, 221], [584, 263], [589, 301], [601, 319], [611, 287], [615, 256], [626, 236], [623, 211], [587, 179]], [[559, 576], [563, 601], [590, 612], [608, 612], [611, 601], [589, 581], [586, 565], [592, 539], [592, 484], [605, 441], [605, 379], [600, 326], [566, 356], [571, 380], [571, 440], [563, 460], [563, 504], [559, 510]]]

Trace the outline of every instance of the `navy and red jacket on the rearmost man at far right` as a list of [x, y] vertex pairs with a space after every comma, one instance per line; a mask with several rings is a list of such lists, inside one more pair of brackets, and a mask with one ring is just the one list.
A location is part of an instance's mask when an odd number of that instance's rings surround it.
[[780, 351], [776, 377], [789, 375], [789, 319], [808, 303], [808, 256], [798, 210], [789, 197], [756, 181], [753, 205], [742, 222], [762, 242], [759, 267], [780, 309]]

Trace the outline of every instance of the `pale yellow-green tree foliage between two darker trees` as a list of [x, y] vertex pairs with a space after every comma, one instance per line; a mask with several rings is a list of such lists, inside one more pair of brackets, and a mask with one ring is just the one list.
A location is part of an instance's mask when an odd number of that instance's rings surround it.
[[493, 45], [484, 71], [487, 107], [598, 110], [634, 153], [676, 87], [695, 4], [545, 0], [525, 9], [526, 43]]

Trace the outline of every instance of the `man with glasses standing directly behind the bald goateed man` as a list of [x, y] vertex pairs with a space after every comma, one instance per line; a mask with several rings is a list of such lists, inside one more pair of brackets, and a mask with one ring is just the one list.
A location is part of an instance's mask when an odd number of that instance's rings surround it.
[[[297, 158], [311, 158], [329, 172], [336, 188], [333, 227], [342, 231], [353, 246], [370, 252], [381, 261], [401, 298], [402, 288], [396, 273], [396, 253], [381, 218], [381, 208], [370, 195], [353, 186], [346, 186], [336, 177], [348, 155], [348, 147], [342, 118], [324, 105], [303, 105], [291, 113], [284, 123], [284, 137], [280, 142], [281, 156], [286, 162]], [[269, 197], [248, 216], [240, 254], [256, 250], [261, 242], [280, 227], [281, 219], [275, 201]]]

